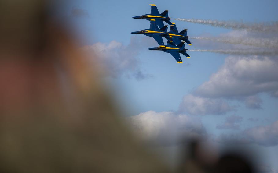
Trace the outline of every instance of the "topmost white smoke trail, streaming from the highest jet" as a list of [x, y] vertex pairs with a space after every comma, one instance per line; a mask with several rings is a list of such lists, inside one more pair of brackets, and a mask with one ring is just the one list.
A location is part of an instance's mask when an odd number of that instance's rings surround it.
[[269, 23], [243, 23], [236, 21], [218, 21], [218, 20], [198, 20], [198, 19], [174, 19], [191, 23], [199, 23], [203, 25], [217, 26], [234, 30], [248, 30], [258, 32], [277, 32], [278, 21]]

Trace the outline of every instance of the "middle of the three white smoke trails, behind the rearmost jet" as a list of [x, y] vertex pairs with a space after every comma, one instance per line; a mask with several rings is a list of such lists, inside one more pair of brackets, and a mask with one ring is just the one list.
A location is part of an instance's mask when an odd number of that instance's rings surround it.
[[267, 38], [250, 38], [250, 37], [191, 37], [192, 39], [204, 39], [210, 41], [218, 41], [229, 44], [244, 44], [262, 48], [278, 48], [278, 39]]

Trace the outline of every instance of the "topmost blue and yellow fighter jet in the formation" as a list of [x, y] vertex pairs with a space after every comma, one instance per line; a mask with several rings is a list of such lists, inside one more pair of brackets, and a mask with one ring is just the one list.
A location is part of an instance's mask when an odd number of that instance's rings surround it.
[[169, 25], [172, 23], [170, 22], [170, 17], [168, 17], [168, 10], [165, 10], [161, 14], [159, 14], [158, 9], [156, 8], [155, 4], [150, 4], [151, 5], [151, 14], [145, 14], [142, 16], [135, 16], [133, 19], [146, 19], [146, 20], [151, 20], [155, 19], [155, 22], [159, 26], [159, 28], [162, 28], [164, 26], [163, 21], [167, 22]]

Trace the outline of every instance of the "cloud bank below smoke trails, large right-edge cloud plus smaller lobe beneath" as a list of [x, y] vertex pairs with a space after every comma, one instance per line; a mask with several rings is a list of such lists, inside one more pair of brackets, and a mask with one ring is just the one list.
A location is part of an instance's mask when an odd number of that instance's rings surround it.
[[188, 115], [224, 115], [243, 102], [246, 108], [262, 109], [260, 93], [275, 97], [278, 90], [278, 59], [261, 56], [229, 56], [210, 79], [184, 96], [178, 112]]

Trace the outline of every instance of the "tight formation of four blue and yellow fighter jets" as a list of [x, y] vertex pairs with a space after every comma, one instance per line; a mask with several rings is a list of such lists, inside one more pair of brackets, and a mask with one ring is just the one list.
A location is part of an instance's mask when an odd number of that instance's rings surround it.
[[[134, 19], [146, 19], [150, 21], [150, 28], [141, 31], [135, 31], [131, 34], [144, 34], [149, 37], [153, 37], [155, 41], [159, 44], [159, 47], [149, 48], [149, 50], [159, 50], [163, 52], [170, 53], [177, 61], [177, 63], [182, 63], [181, 54], [185, 55], [187, 58], [190, 56], [186, 53], [185, 45], [192, 45], [188, 40], [187, 29], [181, 32], [177, 31], [177, 26], [175, 23], [170, 22], [170, 17], [168, 17], [168, 10], [165, 10], [159, 14], [158, 9], [155, 4], [151, 5], [151, 13], [142, 16], [135, 16]], [[168, 25], [164, 25], [166, 22], [170, 25], [170, 31], [167, 32]], [[167, 39], [167, 45], [164, 45], [162, 37]]]

